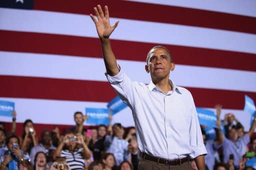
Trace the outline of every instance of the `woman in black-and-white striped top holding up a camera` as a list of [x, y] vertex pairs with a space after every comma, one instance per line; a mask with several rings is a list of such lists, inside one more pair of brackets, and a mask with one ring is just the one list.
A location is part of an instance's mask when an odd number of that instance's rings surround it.
[[84, 159], [89, 159], [91, 152], [81, 134], [67, 133], [53, 154], [53, 159], [64, 157], [71, 170], [84, 170]]

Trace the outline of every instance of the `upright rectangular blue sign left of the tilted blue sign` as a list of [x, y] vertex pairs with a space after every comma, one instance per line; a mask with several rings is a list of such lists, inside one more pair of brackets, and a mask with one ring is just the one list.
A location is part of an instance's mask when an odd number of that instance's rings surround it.
[[85, 108], [85, 113], [88, 116], [87, 124], [109, 124], [108, 110], [105, 108]]

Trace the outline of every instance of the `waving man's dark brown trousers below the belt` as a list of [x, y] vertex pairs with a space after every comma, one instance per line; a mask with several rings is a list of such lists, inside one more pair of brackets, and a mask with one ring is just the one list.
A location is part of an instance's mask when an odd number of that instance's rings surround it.
[[189, 162], [181, 165], [167, 166], [156, 162], [140, 159], [138, 163], [138, 170], [193, 170]]

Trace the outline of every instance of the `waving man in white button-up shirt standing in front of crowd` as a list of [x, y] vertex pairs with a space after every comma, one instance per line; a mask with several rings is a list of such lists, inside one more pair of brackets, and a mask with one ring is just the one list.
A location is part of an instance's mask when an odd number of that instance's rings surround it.
[[198, 170], [205, 170], [207, 152], [193, 98], [188, 90], [169, 80], [175, 67], [170, 52], [162, 46], [150, 49], [145, 70], [150, 73], [151, 82], [145, 85], [131, 81], [111, 50], [109, 36], [118, 21], [111, 26], [107, 6], [104, 9], [105, 15], [97, 5], [97, 19], [90, 16], [100, 38], [106, 77], [132, 111], [141, 152], [139, 170], [192, 170], [189, 158], [195, 160]]

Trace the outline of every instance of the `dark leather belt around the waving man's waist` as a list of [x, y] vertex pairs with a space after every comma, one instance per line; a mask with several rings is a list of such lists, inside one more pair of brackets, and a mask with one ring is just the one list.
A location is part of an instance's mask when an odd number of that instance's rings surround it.
[[144, 153], [140, 154], [140, 158], [142, 158], [144, 160], [160, 163], [160, 164], [165, 164], [165, 165], [168, 165], [168, 166], [181, 165], [181, 164], [189, 161], [188, 157], [185, 157], [185, 158], [182, 158], [182, 159], [177, 159], [177, 160], [165, 160], [165, 159], [153, 157], [151, 155], [147, 155], [147, 154], [144, 154]]

